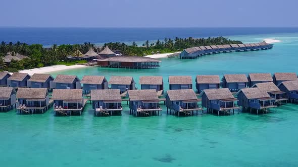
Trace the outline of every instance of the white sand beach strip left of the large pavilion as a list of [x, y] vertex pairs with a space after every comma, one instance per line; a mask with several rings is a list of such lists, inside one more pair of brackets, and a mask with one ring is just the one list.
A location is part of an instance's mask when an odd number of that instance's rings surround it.
[[47, 67], [41, 67], [41, 68], [33, 68], [33, 69], [24, 69], [20, 70], [19, 72], [28, 73], [29, 75], [33, 75], [33, 73], [47, 73], [47, 72], [53, 72], [53, 71], [60, 71], [65, 69], [74, 69], [74, 68], [82, 68], [86, 67], [85, 65], [53, 65], [53, 66], [47, 66]]

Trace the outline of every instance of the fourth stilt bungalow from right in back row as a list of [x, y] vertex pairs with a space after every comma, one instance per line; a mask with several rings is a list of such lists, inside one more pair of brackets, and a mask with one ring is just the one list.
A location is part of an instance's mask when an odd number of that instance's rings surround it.
[[219, 89], [220, 79], [219, 75], [196, 75], [195, 88], [197, 93], [201, 93], [206, 89]]

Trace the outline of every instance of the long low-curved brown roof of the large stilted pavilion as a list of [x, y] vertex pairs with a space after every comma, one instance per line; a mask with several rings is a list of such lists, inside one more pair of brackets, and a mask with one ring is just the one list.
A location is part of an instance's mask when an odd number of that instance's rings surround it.
[[98, 59], [97, 61], [114, 61], [114, 62], [161, 62], [160, 60], [142, 57], [142, 56], [113, 56], [104, 59]]

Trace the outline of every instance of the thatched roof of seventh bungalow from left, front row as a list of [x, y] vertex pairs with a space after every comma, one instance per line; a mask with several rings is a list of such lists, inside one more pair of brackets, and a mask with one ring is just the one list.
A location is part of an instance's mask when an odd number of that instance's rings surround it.
[[207, 98], [209, 100], [224, 100], [224, 99], [234, 99], [234, 96], [230, 92], [228, 88], [224, 89], [210, 89], [210, 90], [204, 90], [200, 96], [203, 94], [206, 94]]

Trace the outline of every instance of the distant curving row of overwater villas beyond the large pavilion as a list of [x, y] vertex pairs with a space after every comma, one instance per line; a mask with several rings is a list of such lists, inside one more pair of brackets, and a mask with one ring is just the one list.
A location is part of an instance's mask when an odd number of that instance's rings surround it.
[[260, 43], [247, 43], [247, 44], [231, 44], [231, 45], [211, 45], [211, 46], [198, 46], [184, 49], [180, 53], [180, 58], [196, 58], [198, 56], [228, 53], [228, 52], [241, 52], [241, 51], [255, 51], [271, 49], [272, 44], [265, 41]]

